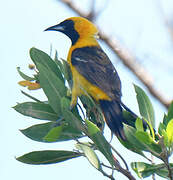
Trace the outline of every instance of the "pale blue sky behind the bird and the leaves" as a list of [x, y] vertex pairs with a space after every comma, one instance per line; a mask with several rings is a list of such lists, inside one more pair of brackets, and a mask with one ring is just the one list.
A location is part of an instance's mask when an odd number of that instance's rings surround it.
[[[75, 2], [78, 2], [79, 7], [85, 7], [85, 11], [88, 10], [86, 0]], [[96, 6], [99, 9], [105, 7], [96, 24], [110, 36], [115, 36], [124, 46], [129, 47], [140, 63], [152, 74], [155, 86], [168, 99], [172, 99], [173, 42], [165, 26], [165, 17], [173, 15], [173, 1], [98, 0]], [[43, 121], [22, 116], [12, 109], [17, 102], [29, 101], [20, 93], [20, 90], [28, 91], [17, 84], [22, 79], [16, 67], [20, 66], [22, 71], [32, 74], [27, 67], [31, 63], [28, 52], [33, 46], [49, 53], [52, 44], [53, 52], [57, 49], [59, 57], [65, 59], [70, 40], [63, 34], [43, 32], [43, 30], [70, 16], [76, 15], [56, 0], [6, 0], [0, 3], [0, 178], [3, 180], [106, 179], [85, 158], [49, 166], [26, 165], [15, 160], [15, 157], [34, 150], [73, 149], [74, 142], [44, 144], [28, 139], [19, 129]], [[123, 102], [138, 113], [132, 83], [141, 87], [143, 85], [113, 56], [105, 44], [101, 42], [101, 45], [120, 75]], [[29, 93], [34, 96], [39, 95], [41, 100], [46, 100], [41, 92]], [[156, 111], [156, 125], [158, 125], [166, 109], [152, 97], [151, 101]], [[105, 131], [109, 139], [110, 132], [108, 129]], [[141, 160], [136, 154], [125, 150], [116, 138], [113, 139], [113, 145], [122, 152], [128, 162], [132, 159]], [[118, 173], [115, 174], [117, 179], [126, 179]]]

